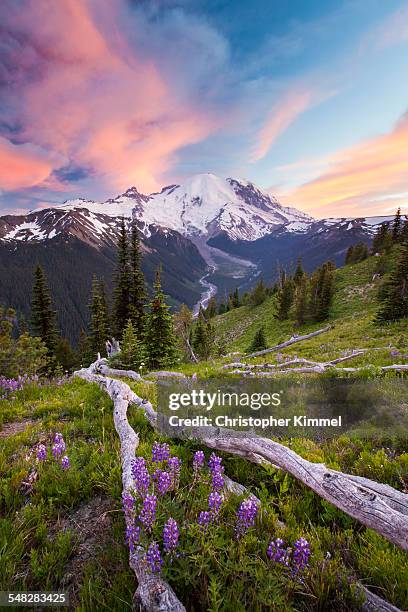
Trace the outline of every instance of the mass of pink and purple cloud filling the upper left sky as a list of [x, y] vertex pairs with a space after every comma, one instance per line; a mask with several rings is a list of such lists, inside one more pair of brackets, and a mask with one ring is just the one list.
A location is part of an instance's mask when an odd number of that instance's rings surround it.
[[0, 122], [7, 126], [4, 135], [19, 143], [3, 147], [15, 179], [0, 175], [0, 188], [45, 180], [61, 188], [58, 167], [36, 156], [38, 147], [63, 159], [61, 168], [75, 167], [78, 176], [85, 168], [109, 190], [136, 184], [151, 191], [180, 148], [219, 128], [211, 103], [216, 79], [205, 92], [203, 83], [228, 52], [207, 24], [189, 24], [175, 9], [158, 26], [125, 0], [28, 0], [24, 11], [18, 6], [10, 0], [0, 7], [0, 78], [7, 83]]

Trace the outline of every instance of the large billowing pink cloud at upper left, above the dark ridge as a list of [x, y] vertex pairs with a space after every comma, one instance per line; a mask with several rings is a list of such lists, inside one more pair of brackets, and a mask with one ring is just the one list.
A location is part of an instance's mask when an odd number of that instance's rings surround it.
[[[122, 0], [29, 0], [24, 11], [13, 11], [11, 3], [6, 25], [16, 38], [27, 37], [13, 48], [18, 78], [11, 94], [18, 96], [21, 141], [90, 168], [113, 191], [131, 184], [151, 191], [178, 149], [207, 137], [220, 118], [195, 105], [187, 91], [175, 91], [160, 58], [127, 40], [120, 27], [125, 6]], [[58, 188], [50, 164], [31, 162], [32, 179], [16, 169], [21, 179], [6, 177], [0, 187], [48, 180]]]

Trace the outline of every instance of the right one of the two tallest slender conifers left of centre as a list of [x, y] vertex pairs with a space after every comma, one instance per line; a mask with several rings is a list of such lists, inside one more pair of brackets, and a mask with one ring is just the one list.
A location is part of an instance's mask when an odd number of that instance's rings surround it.
[[136, 223], [132, 224], [130, 236], [130, 316], [138, 337], [141, 338], [145, 327], [146, 287], [140, 267], [142, 254], [140, 251], [139, 230]]

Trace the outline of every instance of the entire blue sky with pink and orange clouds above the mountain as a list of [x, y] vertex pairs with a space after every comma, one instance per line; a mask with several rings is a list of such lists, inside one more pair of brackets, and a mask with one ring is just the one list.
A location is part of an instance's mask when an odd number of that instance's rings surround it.
[[408, 3], [2, 0], [1, 214], [201, 172], [408, 213]]

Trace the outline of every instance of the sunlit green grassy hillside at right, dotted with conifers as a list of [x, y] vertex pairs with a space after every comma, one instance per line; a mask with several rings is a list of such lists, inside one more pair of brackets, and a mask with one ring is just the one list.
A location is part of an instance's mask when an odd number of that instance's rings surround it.
[[[373, 278], [376, 257], [369, 257], [355, 265], [335, 271], [335, 294], [327, 323], [333, 329], [323, 336], [289, 347], [283, 352], [300, 357], [323, 359], [339, 356], [341, 351], [357, 348], [379, 348], [384, 351], [368, 351], [353, 364], [390, 363], [390, 349], [408, 353], [408, 322], [378, 326], [373, 323], [378, 309], [377, 293], [382, 278]], [[293, 320], [278, 321], [275, 317], [276, 297], [272, 296], [260, 306], [241, 306], [213, 319], [216, 341], [226, 352], [244, 353], [257, 329], [263, 325], [268, 346], [279, 344], [292, 334], [303, 335], [326, 325], [305, 324], [296, 327]], [[397, 356], [398, 357], [398, 356]], [[374, 361], [373, 361], [374, 360]]]

